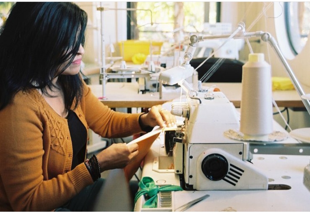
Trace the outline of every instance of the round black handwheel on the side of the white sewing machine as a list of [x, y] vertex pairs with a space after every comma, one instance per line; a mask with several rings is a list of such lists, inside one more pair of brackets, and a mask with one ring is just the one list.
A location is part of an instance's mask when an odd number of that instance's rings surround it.
[[208, 179], [219, 181], [228, 172], [228, 162], [223, 155], [210, 154], [203, 159], [201, 170]]

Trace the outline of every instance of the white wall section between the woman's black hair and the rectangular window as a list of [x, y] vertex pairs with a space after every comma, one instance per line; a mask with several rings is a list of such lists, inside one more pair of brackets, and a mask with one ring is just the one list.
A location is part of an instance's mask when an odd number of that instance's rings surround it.
[[[86, 64], [101, 65], [101, 40], [104, 41], [105, 56], [110, 55], [108, 46], [114, 44], [116, 51], [119, 48], [117, 43], [127, 39], [127, 11], [126, 2], [102, 2], [103, 22], [101, 22], [101, 12], [97, 10], [101, 2], [76, 2], [88, 14], [88, 25], [86, 30], [86, 45], [83, 61]], [[119, 10], [113, 10], [119, 9]], [[101, 26], [104, 29], [104, 35], [101, 35]], [[114, 56], [114, 54], [113, 54]]]

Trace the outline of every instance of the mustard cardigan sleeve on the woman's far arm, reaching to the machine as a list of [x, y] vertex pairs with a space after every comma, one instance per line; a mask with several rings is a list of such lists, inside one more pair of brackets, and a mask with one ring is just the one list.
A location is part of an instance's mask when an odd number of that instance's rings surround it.
[[142, 132], [139, 126], [140, 113], [115, 112], [101, 103], [89, 86], [84, 86], [81, 107], [91, 130], [107, 138], [126, 137]]

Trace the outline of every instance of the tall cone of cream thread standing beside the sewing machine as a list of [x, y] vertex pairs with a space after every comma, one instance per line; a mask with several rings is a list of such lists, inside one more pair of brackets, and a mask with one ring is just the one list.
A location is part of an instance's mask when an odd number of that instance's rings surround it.
[[250, 53], [242, 66], [240, 131], [244, 139], [268, 140], [272, 127], [271, 66], [263, 53]]

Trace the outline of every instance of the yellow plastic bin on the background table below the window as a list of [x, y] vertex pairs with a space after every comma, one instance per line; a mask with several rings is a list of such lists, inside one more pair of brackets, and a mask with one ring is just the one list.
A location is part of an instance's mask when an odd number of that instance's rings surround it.
[[131, 62], [132, 57], [136, 53], [143, 53], [146, 56], [150, 54], [150, 45], [152, 42], [152, 54], [160, 54], [163, 42], [158, 41], [140, 41], [140, 40], [127, 40], [118, 43], [120, 48], [120, 53], [122, 55], [122, 44], [124, 43], [124, 60], [126, 62]]

